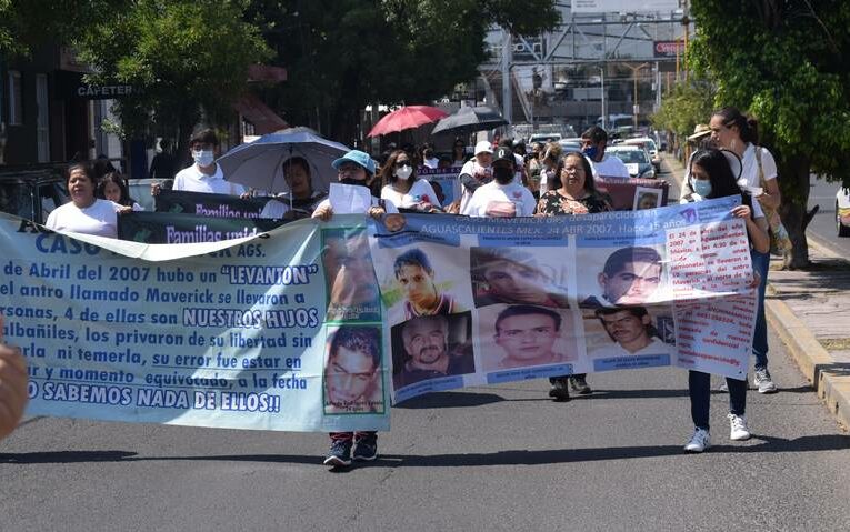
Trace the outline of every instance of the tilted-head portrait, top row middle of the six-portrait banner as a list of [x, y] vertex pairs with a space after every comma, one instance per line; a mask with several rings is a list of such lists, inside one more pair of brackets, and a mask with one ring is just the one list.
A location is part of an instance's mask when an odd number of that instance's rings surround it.
[[567, 262], [562, 248], [471, 248], [476, 307], [524, 303], [567, 309]]

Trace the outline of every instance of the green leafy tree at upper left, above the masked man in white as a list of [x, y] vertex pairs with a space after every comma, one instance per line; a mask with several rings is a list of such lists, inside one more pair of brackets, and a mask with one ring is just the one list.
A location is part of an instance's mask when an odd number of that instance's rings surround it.
[[73, 41], [100, 83], [127, 83], [116, 111], [124, 133], [154, 126], [174, 132], [186, 153], [202, 112], [226, 123], [246, 90], [248, 67], [271, 56], [240, 0], [134, 0], [89, 24]]

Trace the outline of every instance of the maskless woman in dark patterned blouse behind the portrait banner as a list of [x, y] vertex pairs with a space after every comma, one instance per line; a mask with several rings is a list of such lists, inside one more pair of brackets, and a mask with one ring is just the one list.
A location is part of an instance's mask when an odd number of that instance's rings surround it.
[[[597, 192], [590, 163], [577, 151], [567, 153], [567, 157], [558, 161], [549, 184], [550, 190], [540, 197], [534, 215], [561, 217], [613, 210]], [[556, 401], [569, 401], [568, 379], [572, 389], [580, 395], [592, 392], [587, 382], [587, 374], [579, 373], [549, 378], [549, 382], [552, 383], [549, 397]]]

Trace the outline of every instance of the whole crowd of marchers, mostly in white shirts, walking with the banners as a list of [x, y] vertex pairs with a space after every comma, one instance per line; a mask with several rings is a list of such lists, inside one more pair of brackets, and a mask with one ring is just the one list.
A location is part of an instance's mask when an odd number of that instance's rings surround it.
[[[732, 215], [746, 222], [754, 271], [753, 285], [758, 285], [759, 293], [752, 350], [756, 358], [754, 385], [760, 393], [776, 392], [768, 371], [763, 309], [770, 258], [766, 213], [776, 212], [781, 201], [776, 162], [767, 149], [758, 145], [756, 121], [734, 108], [716, 111], [704, 137], [710, 145], [697, 151], [688, 161], [681, 201], [732, 195], [741, 198], [741, 204], [732, 211]], [[382, 154], [378, 162], [363, 151], [351, 150], [333, 161], [332, 165], [340, 183], [369, 188], [371, 203], [364, 214], [384, 220], [391, 230], [391, 217], [386, 214], [398, 213], [399, 210], [470, 217], [581, 215], [611, 211], [610, 200], [597, 190], [594, 178], [629, 178], [629, 172], [620, 159], [606, 153], [609, 139], [602, 128], [588, 129], [581, 140], [582, 150], [568, 153], [563, 153], [557, 142], [536, 144], [527, 151], [521, 142], [503, 140], [492, 145], [489, 141], [481, 141], [474, 144], [469, 158], [466, 142], [458, 139], [450, 157], [438, 158], [430, 147], [420, 150], [406, 147]], [[194, 163], [177, 173], [172, 184], [174, 190], [240, 197], [250, 193], [228, 181], [216, 162], [219, 142], [214, 132], [206, 130], [193, 135], [190, 150]], [[262, 217], [300, 218], [309, 214], [319, 220], [330, 220], [333, 208], [326, 194], [313, 190], [311, 164], [300, 157], [287, 159], [281, 164], [290, 193], [286, 200], [270, 200]], [[460, 197], [444, 204], [439, 183], [419, 177], [418, 171], [454, 167], [460, 167]], [[76, 163], [69, 167], [67, 179], [71, 201], [51, 212], [46, 224], [49, 229], [116, 238], [117, 217], [138, 209], [138, 204], [128, 197], [120, 175], [97, 175], [91, 165]], [[159, 190], [159, 185], [154, 185], [151, 192], [157, 194]], [[442, 313], [451, 313], [451, 304], [434, 305], [430, 312], [431, 315]], [[624, 320], [630, 318], [623, 317]], [[374, 358], [373, 354], [370, 357]], [[8, 434], [20, 419], [27, 401], [26, 381], [24, 361], [19, 350], [0, 347], [0, 438]], [[584, 374], [554, 377], [550, 381], [549, 395], [557, 401], [569, 400], [570, 389], [579, 394], [592, 393]], [[710, 377], [690, 371], [688, 385], [694, 433], [684, 450], [701, 452], [710, 446]], [[747, 440], [750, 438], [746, 420], [747, 381], [727, 379], [727, 387], [730, 438]], [[353, 460], [373, 460], [378, 452], [377, 433], [332, 433], [324, 463], [348, 465], [352, 451]]]

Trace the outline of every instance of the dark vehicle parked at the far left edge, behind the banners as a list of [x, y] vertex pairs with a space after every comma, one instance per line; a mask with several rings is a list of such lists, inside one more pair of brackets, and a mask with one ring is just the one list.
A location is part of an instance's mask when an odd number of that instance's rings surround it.
[[70, 200], [61, 168], [0, 170], [0, 211], [43, 224], [48, 214]]

